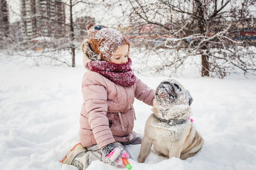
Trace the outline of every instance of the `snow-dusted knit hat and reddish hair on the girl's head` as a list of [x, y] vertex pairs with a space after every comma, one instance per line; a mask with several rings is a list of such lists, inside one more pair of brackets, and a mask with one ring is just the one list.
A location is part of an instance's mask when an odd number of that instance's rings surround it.
[[116, 29], [105, 27], [104, 25], [94, 25], [90, 22], [87, 25], [90, 47], [93, 52], [100, 55], [102, 60], [109, 61], [114, 52], [122, 45], [129, 45], [128, 39]]

